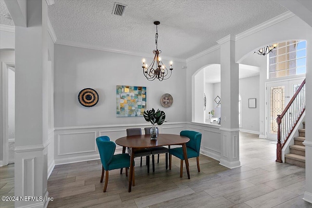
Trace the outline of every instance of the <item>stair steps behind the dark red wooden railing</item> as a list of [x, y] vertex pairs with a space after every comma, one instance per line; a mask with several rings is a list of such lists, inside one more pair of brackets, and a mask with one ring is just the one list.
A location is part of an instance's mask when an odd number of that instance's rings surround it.
[[299, 136], [294, 137], [294, 145], [290, 145], [290, 153], [285, 154], [285, 163], [296, 165], [302, 168], [306, 167], [306, 147], [302, 142], [306, 139], [305, 122], [303, 129], [299, 129]]

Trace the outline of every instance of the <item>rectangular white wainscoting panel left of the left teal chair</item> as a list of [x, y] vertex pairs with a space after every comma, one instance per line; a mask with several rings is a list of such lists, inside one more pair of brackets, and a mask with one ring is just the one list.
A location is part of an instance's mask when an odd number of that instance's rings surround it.
[[76, 132], [59, 134], [58, 155], [96, 152], [96, 132]]

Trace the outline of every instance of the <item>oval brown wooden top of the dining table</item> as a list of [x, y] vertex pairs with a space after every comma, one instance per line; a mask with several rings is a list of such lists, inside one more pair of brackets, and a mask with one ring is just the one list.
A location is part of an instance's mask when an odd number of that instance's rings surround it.
[[142, 134], [124, 136], [115, 141], [117, 145], [130, 148], [150, 148], [157, 146], [179, 145], [190, 141], [186, 136], [177, 134], [159, 133], [156, 140], [151, 140], [151, 135]]

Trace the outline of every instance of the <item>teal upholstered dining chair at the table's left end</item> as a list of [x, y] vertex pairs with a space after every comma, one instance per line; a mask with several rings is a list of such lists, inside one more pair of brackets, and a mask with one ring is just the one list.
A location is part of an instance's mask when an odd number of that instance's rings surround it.
[[105, 171], [106, 177], [103, 192], [106, 192], [109, 170], [126, 168], [126, 176], [128, 176], [128, 168], [130, 167], [130, 155], [127, 153], [114, 154], [116, 150], [116, 144], [115, 142], [110, 141], [108, 136], [100, 136], [96, 139], [96, 141], [102, 163], [102, 176], [100, 182], [103, 182]]

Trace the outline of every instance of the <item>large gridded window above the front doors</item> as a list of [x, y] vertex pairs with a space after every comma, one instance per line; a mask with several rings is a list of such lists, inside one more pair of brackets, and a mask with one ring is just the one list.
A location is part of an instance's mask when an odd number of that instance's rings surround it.
[[269, 53], [269, 79], [306, 73], [306, 40], [277, 43]]

